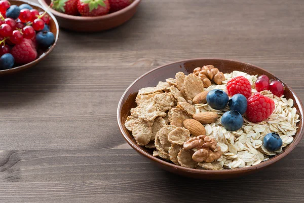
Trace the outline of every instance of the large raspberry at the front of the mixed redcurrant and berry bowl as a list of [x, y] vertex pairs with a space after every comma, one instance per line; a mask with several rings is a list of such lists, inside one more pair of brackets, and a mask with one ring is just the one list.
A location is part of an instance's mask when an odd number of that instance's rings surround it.
[[11, 54], [14, 56], [15, 62], [19, 64], [26, 64], [37, 58], [37, 51], [28, 39], [23, 39], [20, 44], [15, 45]]

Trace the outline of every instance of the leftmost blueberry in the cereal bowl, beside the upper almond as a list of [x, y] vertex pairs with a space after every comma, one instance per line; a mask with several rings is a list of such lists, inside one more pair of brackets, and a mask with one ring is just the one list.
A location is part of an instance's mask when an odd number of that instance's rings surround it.
[[213, 89], [207, 94], [207, 103], [213, 109], [224, 109], [228, 103], [229, 97], [223, 90]]

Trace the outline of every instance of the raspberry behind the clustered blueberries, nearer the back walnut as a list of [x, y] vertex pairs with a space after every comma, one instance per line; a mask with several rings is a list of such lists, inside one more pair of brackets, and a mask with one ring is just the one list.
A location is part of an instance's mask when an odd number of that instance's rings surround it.
[[251, 96], [251, 85], [247, 78], [238, 76], [227, 82], [227, 93], [230, 96], [235, 94], [243, 94], [246, 98]]

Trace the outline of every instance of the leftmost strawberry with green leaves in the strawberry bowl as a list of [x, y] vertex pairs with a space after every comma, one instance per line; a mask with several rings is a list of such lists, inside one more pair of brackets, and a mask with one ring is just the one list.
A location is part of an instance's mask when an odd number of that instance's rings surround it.
[[77, 2], [78, 0], [56, 0], [52, 1], [51, 7], [56, 11], [65, 13], [67, 15], [77, 16], [78, 9], [77, 9]]

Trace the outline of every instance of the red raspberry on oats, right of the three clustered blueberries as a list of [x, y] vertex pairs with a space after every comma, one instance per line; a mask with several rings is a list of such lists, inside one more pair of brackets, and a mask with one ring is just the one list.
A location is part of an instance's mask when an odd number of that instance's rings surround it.
[[247, 100], [246, 118], [254, 123], [261, 122], [268, 119], [274, 110], [274, 100], [256, 92]]

